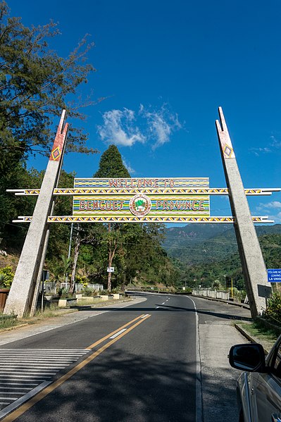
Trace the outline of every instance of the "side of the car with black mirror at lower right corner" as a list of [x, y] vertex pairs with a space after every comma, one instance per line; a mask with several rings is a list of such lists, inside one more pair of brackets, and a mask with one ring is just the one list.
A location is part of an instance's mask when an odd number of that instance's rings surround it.
[[258, 343], [230, 349], [230, 365], [243, 372], [237, 380], [239, 422], [281, 422], [281, 335], [266, 356]]

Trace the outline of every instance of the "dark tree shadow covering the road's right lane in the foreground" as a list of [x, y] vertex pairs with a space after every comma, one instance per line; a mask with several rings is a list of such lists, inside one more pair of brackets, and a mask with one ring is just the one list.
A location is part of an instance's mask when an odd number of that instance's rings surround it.
[[[196, 410], [194, 362], [184, 364], [137, 351], [108, 349], [51, 392], [20, 422], [194, 422]], [[233, 385], [218, 376], [212, 384], [213, 406], [235, 395]], [[225, 403], [228, 406], [229, 403]]]

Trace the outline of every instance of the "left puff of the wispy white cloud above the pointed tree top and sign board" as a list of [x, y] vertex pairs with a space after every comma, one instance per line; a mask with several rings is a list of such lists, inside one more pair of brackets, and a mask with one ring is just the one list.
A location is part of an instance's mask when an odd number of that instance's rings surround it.
[[135, 113], [128, 108], [106, 111], [103, 114], [104, 125], [98, 126], [101, 139], [108, 144], [132, 147], [135, 142], [145, 142], [146, 138], [134, 125]]

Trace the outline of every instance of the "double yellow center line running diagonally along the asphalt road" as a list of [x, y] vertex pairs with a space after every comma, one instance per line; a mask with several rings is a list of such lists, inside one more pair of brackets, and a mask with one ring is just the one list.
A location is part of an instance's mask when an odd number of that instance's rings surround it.
[[[124, 335], [126, 335], [127, 333], [130, 333], [131, 330], [133, 330], [134, 328], [136, 328], [137, 325], [139, 325], [139, 324], [143, 323], [144, 321], [146, 321], [146, 319], [149, 318], [150, 316], [151, 315], [146, 315], [146, 316], [142, 315], [142, 316], [139, 316], [139, 317], [135, 318], [134, 320], [130, 321], [130, 323], [127, 323], [127, 324], [123, 325], [123, 327], [125, 327], [127, 325], [130, 325], [132, 322], [136, 321], [137, 319], [142, 318], [141, 320], [137, 321], [137, 323], [135, 323], [134, 325], [132, 325], [130, 328], [128, 328], [127, 330], [125, 330], [123, 333], [121, 333], [120, 335], [118, 335], [118, 337], [115, 337], [113, 340], [111, 340], [110, 342], [106, 343], [106, 345], [100, 347], [98, 350], [96, 350], [96, 352], [94, 352], [93, 354], [91, 354], [91, 356], [87, 356], [87, 358], [84, 359], [82, 362], [80, 362], [80, 364], [77, 364], [74, 368], [70, 369], [70, 371], [68, 371], [68, 373], [65, 373], [65, 375], [61, 376], [61, 378], [58, 378], [58, 380], [56, 380], [54, 383], [52, 383], [51, 385], [48, 385], [46, 388], [44, 388], [44, 390], [42, 390], [39, 393], [37, 393], [37, 395], [35, 395], [34, 397], [32, 397], [28, 402], [25, 402], [24, 404], [22, 404], [22, 406], [18, 407], [18, 409], [15, 409], [15, 411], [12, 411], [11, 414], [9, 414], [4, 419], [2, 419], [1, 422], [13, 422], [13, 421], [15, 421], [16, 418], [18, 418], [19, 416], [21, 416], [22, 414], [24, 414], [25, 411], [27, 411], [32, 406], [34, 406], [37, 402], [39, 402], [40, 400], [44, 399], [44, 397], [46, 397], [47, 395], [49, 395], [57, 387], [59, 387], [61, 384], [63, 384], [66, 380], [68, 380], [69, 378], [71, 378], [75, 373], [77, 373], [78, 371], [80, 371], [80, 369], [84, 368], [84, 366], [86, 366], [87, 364], [89, 364], [89, 362], [91, 362], [92, 360], [94, 360], [96, 358], [96, 356], [99, 356], [99, 354], [101, 354], [102, 352], [104, 352], [104, 350], [108, 349], [108, 347], [110, 347], [115, 342], [117, 342], [118, 340], [120, 340], [120, 338], [124, 337]], [[113, 333], [117, 333], [120, 329], [121, 328], [118, 328], [118, 330], [113, 331]], [[110, 335], [113, 335], [113, 333], [111, 333]], [[106, 338], [108, 338], [108, 336], [104, 337], [101, 340], [105, 340]], [[99, 340], [99, 342], [101, 342], [101, 340]], [[92, 345], [92, 347], [94, 347], [94, 345], [98, 344], [99, 342], [94, 343]], [[89, 347], [88, 347], [88, 349], [89, 349]]]

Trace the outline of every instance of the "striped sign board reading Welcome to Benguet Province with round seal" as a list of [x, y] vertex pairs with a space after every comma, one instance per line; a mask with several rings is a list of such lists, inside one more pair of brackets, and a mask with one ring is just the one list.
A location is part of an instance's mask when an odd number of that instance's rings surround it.
[[73, 197], [73, 217], [169, 223], [209, 217], [208, 194], [190, 194], [208, 185], [208, 178], [76, 178], [74, 191], [81, 189], [83, 195]]

